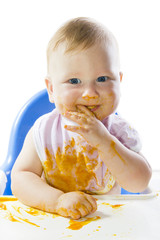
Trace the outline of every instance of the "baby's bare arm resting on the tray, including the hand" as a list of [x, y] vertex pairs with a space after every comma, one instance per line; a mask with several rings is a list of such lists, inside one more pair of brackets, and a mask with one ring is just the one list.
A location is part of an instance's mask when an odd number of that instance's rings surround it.
[[80, 192], [63, 193], [42, 178], [42, 164], [35, 150], [32, 129], [11, 173], [13, 194], [24, 204], [65, 217], [78, 219], [97, 209], [92, 196]]

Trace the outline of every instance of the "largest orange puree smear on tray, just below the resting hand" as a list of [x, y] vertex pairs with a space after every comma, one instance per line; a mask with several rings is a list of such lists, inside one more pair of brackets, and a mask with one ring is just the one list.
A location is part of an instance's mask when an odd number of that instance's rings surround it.
[[71, 230], [79, 230], [81, 229], [83, 226], [89, 224], [90, 222], [93, 222], [93, 221], [97, 221], [98, 219], [100, 219], [99, 216], [96, 216], [96, 217], [91, 217], [91, 218], [86, 218], [85, 220], [81, 220], [81, 221], [77, 221], [77, 220], [70, 220], [69, 221], [69, 224], [70, 226], [67, 227]]

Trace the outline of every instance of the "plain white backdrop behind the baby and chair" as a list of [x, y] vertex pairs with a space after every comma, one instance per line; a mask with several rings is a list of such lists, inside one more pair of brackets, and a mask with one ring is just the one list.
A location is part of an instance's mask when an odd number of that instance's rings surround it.
[[139, 131], [153, 169], [160, 169], [159, 0], [0, 0], [0, 164], [19, 109], [45, 87], [49, 39], [78, 16], [97, 19], [116, 36], [124, 73], [119, 111]]

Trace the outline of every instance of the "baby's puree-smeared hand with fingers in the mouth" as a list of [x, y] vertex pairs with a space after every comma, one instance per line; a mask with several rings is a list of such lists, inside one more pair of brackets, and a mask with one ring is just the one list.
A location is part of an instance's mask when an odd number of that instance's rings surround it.
[[78, 106], [78, 110], [78, 112], [69, 111], [64, 114], [71, 121], [78, 123], [78, 126], [65, 125], [65, 128], [80, 134], [90, 145], [98, 148], [102, 141], [106, 142], [106, 137], [110, 136], [107, 128], [87, 107]]

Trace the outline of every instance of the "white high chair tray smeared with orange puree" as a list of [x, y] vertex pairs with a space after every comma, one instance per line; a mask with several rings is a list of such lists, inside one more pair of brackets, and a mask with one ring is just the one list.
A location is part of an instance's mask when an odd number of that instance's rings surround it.
[[[160, 239], [160, 172], [154, 172], [150, 192], [138, 195], [94, 195], [98, 209], [80, 220], [63, 218], [0, 197], [3, 240], [29, 239]], [[152, 190], [151, 190], [152, 189]]]

